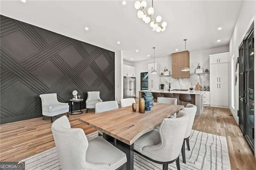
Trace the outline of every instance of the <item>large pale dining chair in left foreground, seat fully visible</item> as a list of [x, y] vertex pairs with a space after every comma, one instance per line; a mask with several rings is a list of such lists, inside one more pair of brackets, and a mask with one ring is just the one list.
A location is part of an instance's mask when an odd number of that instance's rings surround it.
[[62, 170], [120, 169], [126, 154], [98, 136], [88, 141], [84, 130], [71, 128], [66, 116], [52, 124], [52, 134]]

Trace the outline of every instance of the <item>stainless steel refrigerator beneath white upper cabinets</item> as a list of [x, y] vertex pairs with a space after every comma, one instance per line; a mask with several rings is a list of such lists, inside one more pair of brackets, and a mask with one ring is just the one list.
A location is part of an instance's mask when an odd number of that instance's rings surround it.
[[136, 78], [124, 77], [124, 99], [136, 97]]

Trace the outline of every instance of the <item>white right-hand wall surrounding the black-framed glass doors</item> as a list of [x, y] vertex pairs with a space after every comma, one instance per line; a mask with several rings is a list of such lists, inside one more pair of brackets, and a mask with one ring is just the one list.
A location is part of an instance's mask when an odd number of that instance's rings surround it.
[[[229, 43], [229, 51], [230, 51], [230, 57], [234, 54], [235, 58], [238, 57], [239, 52], [239, 45], [242, 43], [242, 40], [244, 39], [245, 34], [248, 32], [250, 26], [254, 22], [254, 49], [255, 49], [255, 40], [256, 40], [256, 1], [243, 1], [242, 6], [236, 21], [236, 25], [234, 27], [234, 32], [232, 34], [232, 37], [230, 39]], [[255, 50], [254, 50], [255, 53]], [[231, 63], [230, 63], [231, 65]], [[256, 59], [254, 58], [254, 67], [256, 65]], [[229, 67], [231, 68], [231, 67]], [[231, 73], [231, 69], [229, 72]], [[239, 70], [237, 71], [239, 73]], [[255, 83], [255, 75], [256, 75], [256, 69], [254, 68], [254, 99], [256, 99], [256, 83]], [[230, 78], [230, 81], [231, 80]], [[239, 79], [238, 79], [238, 85], [239, 85]], [[235, 109], [232, 109], [231, 102], [230, 102], [230, 110], [236, 119], [236, 122], [238, 123], [238, 117], [237, 117], [237, 111], [239, 109], [239, 86], [235, 86]], [[230, 88], [231, 92], [231, 88]], [[230, 93], [230, 99], [231, 99], [231, 93]], [[254, 129], [256, 129], [256, 114], [255, 114], [255, 105], [254, 105]], [[256, 130], [254, 131], [254, 136], [256, 135]], [[256, 146], [256, 140], [254, 140], [254, 146]], [[256, 152], [254, 153], [254, 156], [256, 158]]]

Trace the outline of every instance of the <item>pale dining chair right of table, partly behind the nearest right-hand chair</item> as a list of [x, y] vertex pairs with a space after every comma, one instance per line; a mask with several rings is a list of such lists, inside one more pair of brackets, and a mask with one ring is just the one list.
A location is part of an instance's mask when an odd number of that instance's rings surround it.
[[[184, 112], [188, 113], [188, 115], [189, 115], [188, 127], [186, 129], [186, 133], [185, 133], [183, 144], [182, 144], [182, 150], [181, 150], [182, 160], [183, 160], [183, 163], [185, 163], [185, 164], [186, 164], [185, 141], [186, 141], [188, 150], [190, 150], [189, 137], [190, 137], [191, 130], [192, 130], [192, 127], [193, 127], [193, 124], [194, 124], [194, 119], [195, 119], [195, 116], [196, 116], [196, 110], [197, 110], [197, 107], [195, 105], [190, 104], [190, 103], [188, 103], [186, 105], [186, 107], [184, 108]], [[178, 117], [180, 117], [180, 115], [177, 115], [177, 118]]]

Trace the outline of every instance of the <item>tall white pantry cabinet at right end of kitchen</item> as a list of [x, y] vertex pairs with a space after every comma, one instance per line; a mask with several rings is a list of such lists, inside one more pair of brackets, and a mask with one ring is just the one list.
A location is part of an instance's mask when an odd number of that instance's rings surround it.
[[228, 108], [228, 53], [210, 55], [210, 106]]

